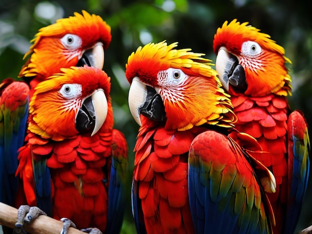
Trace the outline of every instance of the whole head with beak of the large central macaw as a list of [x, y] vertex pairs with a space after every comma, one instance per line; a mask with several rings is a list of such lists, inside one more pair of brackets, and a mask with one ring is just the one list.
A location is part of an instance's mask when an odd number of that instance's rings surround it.
[[176, 46], [150, 43], [129, 56], [129, 107], [137, 123], [142, 125], [145, 116], [165, 122], [166, 129], [186, 130], [204, 123], [232, 126], [236, 116], [210, 60]]

